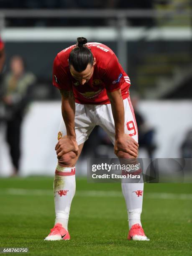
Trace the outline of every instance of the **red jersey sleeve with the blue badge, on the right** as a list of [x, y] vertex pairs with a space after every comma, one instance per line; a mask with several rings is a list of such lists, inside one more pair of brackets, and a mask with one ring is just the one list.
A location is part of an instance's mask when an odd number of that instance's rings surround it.
[[115, 54], [110, 58], [108, 67], [103, 75], [103, 82], [108, 92], [120, 89], [121, 84], [124, 82], [122, 70], [120, 69], [120, 64]]

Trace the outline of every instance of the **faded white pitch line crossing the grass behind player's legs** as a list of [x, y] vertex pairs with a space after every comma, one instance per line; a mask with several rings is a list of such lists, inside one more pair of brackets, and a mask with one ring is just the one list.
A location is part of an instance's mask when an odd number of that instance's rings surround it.
[[[51, 189], [0, 189], [0, 195], [27, 195], [27, 196], [53, 196]], [[145, 193], [144, 197], [149, 199], [169, 199], [169, 200], [192, 200], [192, 194], [174, 194], [174, 193]], [[82, 190], [75, 193], [77, 197], [123, 197], [120, 191], [103, 190]]]

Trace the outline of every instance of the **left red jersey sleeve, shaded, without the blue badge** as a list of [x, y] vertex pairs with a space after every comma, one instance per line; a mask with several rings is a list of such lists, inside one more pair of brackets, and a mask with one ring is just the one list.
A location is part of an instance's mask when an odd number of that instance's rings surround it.
[[69, 74], [67, 74], [66, 69], [62, 67], [58, 55], [55, 57], [53, 65], [53, 85], [61, 90], [72, 90]]

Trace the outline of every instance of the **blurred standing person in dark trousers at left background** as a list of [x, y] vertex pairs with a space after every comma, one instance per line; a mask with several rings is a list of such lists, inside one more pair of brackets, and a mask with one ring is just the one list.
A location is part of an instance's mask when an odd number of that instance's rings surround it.
[[25, 71], [23, 59], [20, 56], [13, 56], [10, 60], [10, 72], [5, 74], [2, 85], [6, 112], [6, 140], [10, 146], [14, 175], [19, 170], [21, 123], [35, 81], [36, 77]]

